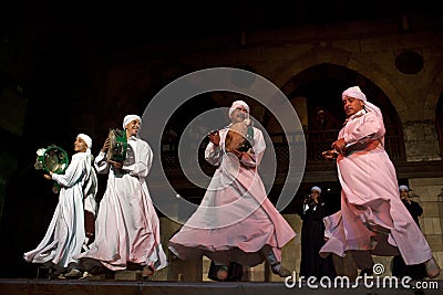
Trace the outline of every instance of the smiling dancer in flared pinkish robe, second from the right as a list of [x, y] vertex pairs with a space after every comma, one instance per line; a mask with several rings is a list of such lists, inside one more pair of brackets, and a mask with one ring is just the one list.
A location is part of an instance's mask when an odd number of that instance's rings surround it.
[[296, 233], [267, 198], [257, 172], [266, 149], [264, 135], [254, 129], [251, 148], [240, 151], [233, 145], [238, 139], [233, 130], [246, 126], [248, 113], [245, 102], [234, 102], [231, 124], [209, 135], [205, 157], [218, 168], [196, 212], [169, 240], [169, 250], [182, 260], [206, 255], [222, 265], [220, 281], [227, 276], [229, 262], [255, 266], [267, 260], [275, 274], [291, 275], [280, 264], [281, 247]]

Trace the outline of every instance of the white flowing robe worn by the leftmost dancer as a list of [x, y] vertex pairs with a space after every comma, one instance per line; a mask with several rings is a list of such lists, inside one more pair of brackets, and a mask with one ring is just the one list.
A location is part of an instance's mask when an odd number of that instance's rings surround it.
[[[73, 155], [65, 172], [53, 173], [52, 179], [61, 186], [59, 203], [43, 240], [34, 250], [24, 253], [24, 260], [62, 270], [78, 262], [74, 256], [80, 254], [85, 241], [84, 188], [90, 188], [90, 198], [95, 197], [96, 191], [90, 152]], [[90, 203], [94, 206], [93, 200]]]

